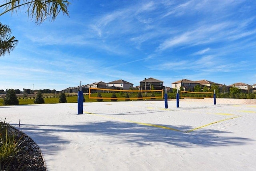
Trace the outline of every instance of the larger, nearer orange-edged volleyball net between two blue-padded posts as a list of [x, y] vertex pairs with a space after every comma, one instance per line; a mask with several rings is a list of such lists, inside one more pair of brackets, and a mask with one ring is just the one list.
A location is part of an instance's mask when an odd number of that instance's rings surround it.
[[104, 89], [89, 88], [89, 99], [110, 99], [111, 101], [129, 101], [143, 99], [163, 99], [164, 91], [161, 90], [122, 90], [122, 89]]

